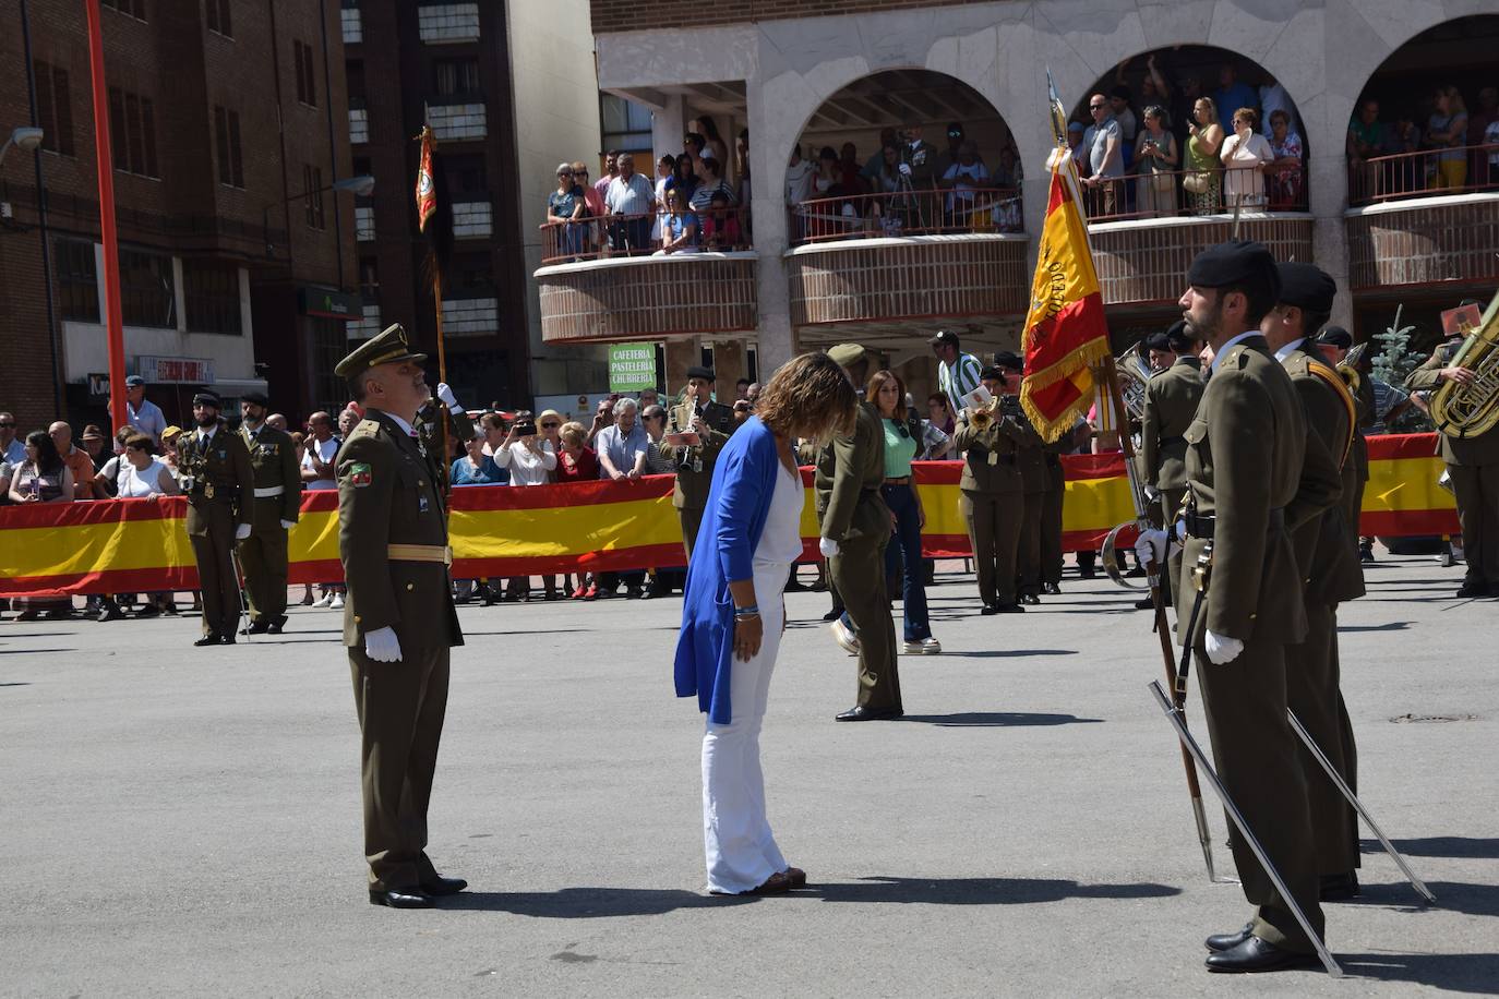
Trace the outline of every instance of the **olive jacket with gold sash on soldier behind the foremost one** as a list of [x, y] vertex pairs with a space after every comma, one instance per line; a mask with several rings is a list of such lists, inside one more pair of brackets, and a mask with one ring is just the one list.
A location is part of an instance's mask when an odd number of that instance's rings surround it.
[[[1280, 358], [1280, 367], [1291, 376], [1297, 397], [1301, 398], [1307, 430], [1322, 443], [1322, 449], [1333, 461], [1342, 461], [1339, 496], [1345, 497], [1358, 488], [1358, 469], [1349, 446], [1352, 427], [1349, 427], [1348, 406], [1331, 385], [1312, 373], [1312, 364], [1322, 364], [1339, 380], [1342, 376], [1322, 361], [1321, 353], [1312, 353], [1309, 346], [1316, 350], [1313, 344], [1301, 341], [1297, 349]], [[1297, 527], [1291, 542], [1297, 550], [1307, 604], [1333, 607], [1364, 595], [1358, 544], [1349, 538], [1342, 503], [1334, 503], [1321, 517], [1313, 517]]]

